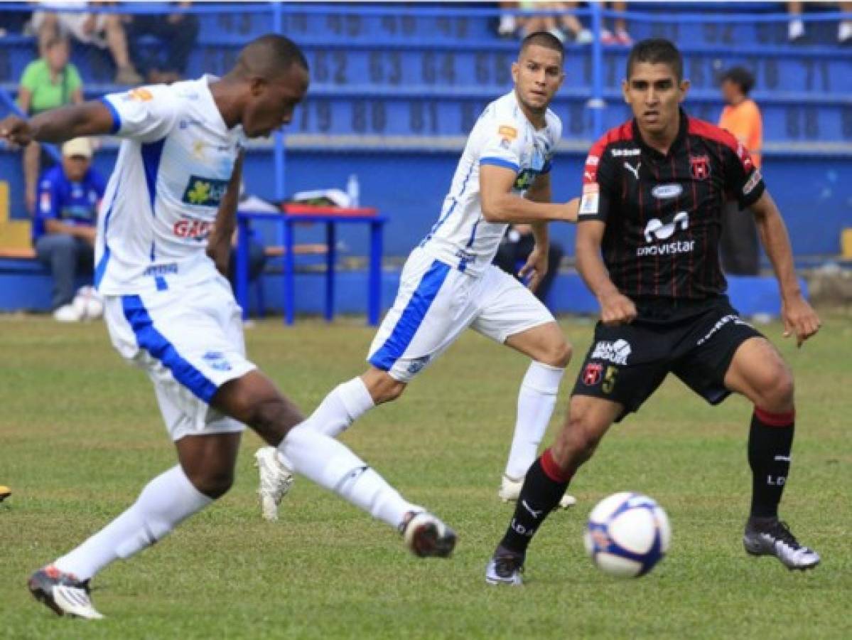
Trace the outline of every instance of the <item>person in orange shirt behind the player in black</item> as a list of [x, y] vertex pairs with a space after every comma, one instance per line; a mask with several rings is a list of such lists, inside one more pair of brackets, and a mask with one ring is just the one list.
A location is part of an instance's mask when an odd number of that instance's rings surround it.
[[[754, 76], [742, 66], [728, 69], [722, 76], [722, 98], [725, 107], [719, 126], [734, 134], [751, 153], [760, 169], [763, 147], [763, 119], [755, 101], [748, 97], [754, 87]], [[722, 238], [719, 241], [722, 268], [731, 275], [757, 275], [760, 269], [760, 246], [754, 216], [740, 211], [736, 202], [728, 202], [722, 213]]]

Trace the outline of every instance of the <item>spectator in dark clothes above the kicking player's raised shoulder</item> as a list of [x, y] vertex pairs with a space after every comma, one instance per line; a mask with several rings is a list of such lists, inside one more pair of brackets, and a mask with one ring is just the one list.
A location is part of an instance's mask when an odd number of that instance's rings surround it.
[[[192, 3], [176, 3], [188, 7]], [[130, 39], [130, 51], [136, 67], [153, 84], [170, 84], [183, 78], [187, 72], [189, 54], [199, 37], [199, 19], [193, 14], [173, 13], [135, 14], [125, 17]], [[145, 36], [157, 37], [164, 56], [145, 60], [140, 40]]]

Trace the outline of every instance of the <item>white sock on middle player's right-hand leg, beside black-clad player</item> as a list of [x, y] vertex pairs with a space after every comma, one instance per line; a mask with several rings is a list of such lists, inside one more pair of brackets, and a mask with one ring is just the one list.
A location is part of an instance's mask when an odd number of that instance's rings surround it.
[[556, 406], [563, 373], [565, 369], [557, 366], [535, 360], [530, 363], [518, 393], [518, 417], [512, 447], [509, 449], [509, 462], [506, 463], [506, 476], [515, 480], [526, 476], [535, 461], [538, 444], [544, 437]]

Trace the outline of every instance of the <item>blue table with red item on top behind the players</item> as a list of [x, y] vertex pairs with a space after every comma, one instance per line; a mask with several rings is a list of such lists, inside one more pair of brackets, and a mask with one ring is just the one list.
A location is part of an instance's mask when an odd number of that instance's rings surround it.
[[284, 231], [284, 321], [292, 325], [295, 320], [295, 264], [294, 264], [294, 225], [296, 223], [325, 223], [325, 309], [324, 317], [331, 322], [334, 319], [334, 274], [337, 262], [337, 224], [366, 224], [370, 228], [370, 266], [367, 277], [367, 322], [378, 325], [382, 310], [382, 240], [384, 223], [387, 218], [377, 215], [377, 210], [363, 207], [360, 209], [339, 209], [336, 207], [317, 207], [308, 205], [285, 205], [285, 213], [270, 214], [253, 211], [238, 211], [237, 225], [239, 243], [237, 245], [237, 302], [243, 308], [243, 318], [249, 310], [249, 223], [251, 220], [266, 220], [283, 224]]

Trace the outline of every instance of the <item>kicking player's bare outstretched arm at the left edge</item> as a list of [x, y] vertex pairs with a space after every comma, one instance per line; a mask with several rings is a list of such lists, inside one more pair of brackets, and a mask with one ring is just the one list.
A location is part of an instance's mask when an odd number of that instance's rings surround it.
[[51, 109], [25, 119], [8, 116], [0, 120], [0, 138], [26, 147], [33, 140], [64, 142], [81, 135], [108, 135], [113, 128], [112, 113], [101, 101], [83, 102]]

